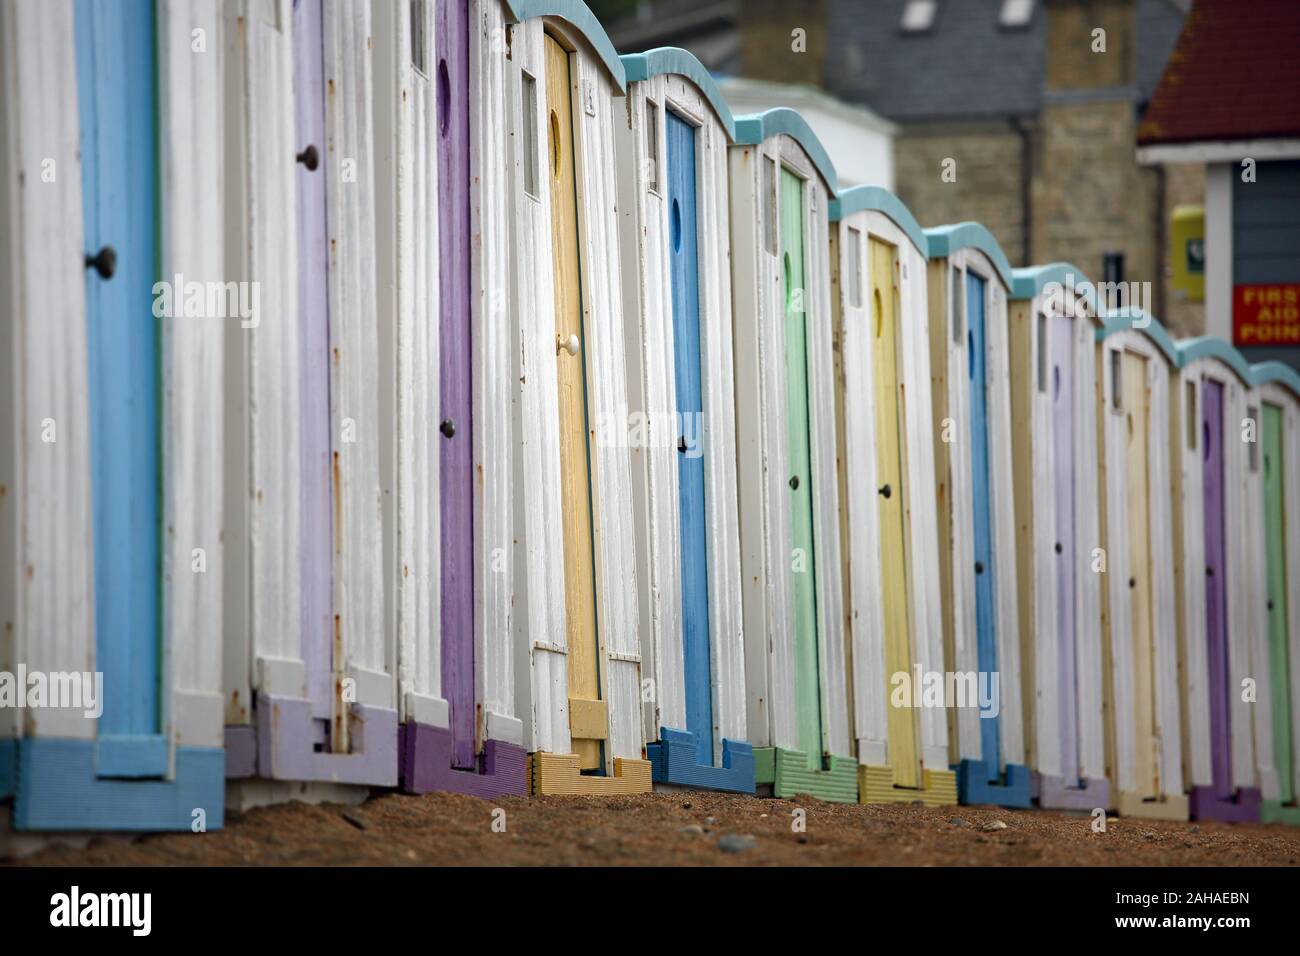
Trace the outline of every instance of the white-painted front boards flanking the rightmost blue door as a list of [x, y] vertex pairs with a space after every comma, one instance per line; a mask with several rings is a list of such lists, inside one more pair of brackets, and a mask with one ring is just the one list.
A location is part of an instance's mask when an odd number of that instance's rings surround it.
[[[1000, 701], [1001, 750], [1005, 762], [1014, 763], [1024, 753], [1024, 711], [1020, 704], [1020, 628], [1017, 604], [1018, 580], [1015, 575], [1015, 501], [1010, 494], [1011, 470], [1011, 385], [1010, 347], [1008, 338], [1008, 289], [989, 258], [975, 247], [958, 248], [946, 258], [931, 260], [936, 271], [937, 287], [942, 290], [941, 303], [931, 306], [931, 313], [948, 321], [935, 329], [931, 355], [942, 363], [942, 386], [935, 388], [933, 446], [936, 475], [946, 494], [936, 502], [939, 520], [949, 527], [952, 546], [940, 561], [949, 572], [942, 575], [944, 604], [950, 607], [952, 635], [945, 641], [945, 670], [978, 672], [975, 624], [975, 575], [971, 570], [975, 553], [975, 510], [971, 493], [971, 408], [970, 375], [965, 312], [966, 273], [984, 280], [984, 343], [985, 343], [985, 416], [988, 428], [988, 488], [989, 536], [993, 574], [993, 628], [997, 641], [997, 669]], [[959, 274], [962, 302], [952, 300], [952, 272]], [[935, 282], [931, 290], [936, 289]], [[954, 315], [962, 334], [954, 339]], [[936, 382], [939, 378], [936, 377]], [[944, 441], [945, 420], [952, 441]], [[946, 463], [946, 467], [945, 467]], [[953, 762], [961, 758], [980, 758], [979, 709], [956, 708], [956, 719], [949, 727], [956, 739], [949, 743]]]

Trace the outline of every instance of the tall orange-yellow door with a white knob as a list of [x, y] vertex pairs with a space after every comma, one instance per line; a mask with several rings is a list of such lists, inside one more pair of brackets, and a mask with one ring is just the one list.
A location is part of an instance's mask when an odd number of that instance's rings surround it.
[[[602, 766], [608, 726], [601, 701], [592, 557], [592, 481], [586, 444], [586, 360], [578, 274], [577, 190], [568, 53], [546, 38], [546, 112], [550, 130], [551, 260], [555, 267], [556, 380], [560, 416], [560, 503], [564, 524], [564, 607], [568, 640], [569, 728], [584, 770]], [[576, 354], [567, 346], [577, 338]]]

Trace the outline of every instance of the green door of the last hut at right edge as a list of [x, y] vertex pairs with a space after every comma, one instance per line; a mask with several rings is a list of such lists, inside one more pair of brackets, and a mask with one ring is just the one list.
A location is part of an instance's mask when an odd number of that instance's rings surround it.
[[1273, 760], [1278, 769], [1280, 800], [1295, 800], [1295, 752], [1291, 741], [1291, 661], [1287, 653], [1287, 549], [1282, 489], [1282, 410], [1264, 406], [1264, 531], [1269, 567], [1269, 669], [1273, 683]]

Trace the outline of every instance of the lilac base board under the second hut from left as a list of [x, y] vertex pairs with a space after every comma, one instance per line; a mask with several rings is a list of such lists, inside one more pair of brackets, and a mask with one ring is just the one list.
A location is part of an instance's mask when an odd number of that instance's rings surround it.
[[398, 711], [354, 704], [351, 753], [320, 753], [306, 698], [257, 695], [256, 730], [226, 727], [226, 777], [326, 780], [372, 787], [398, 783]]

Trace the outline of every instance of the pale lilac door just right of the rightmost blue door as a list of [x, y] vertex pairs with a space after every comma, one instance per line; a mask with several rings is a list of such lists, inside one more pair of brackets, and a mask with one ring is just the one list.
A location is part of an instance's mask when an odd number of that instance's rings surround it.
[[1061, 777], [1079, 786], [1079, 676], [1074, 631], [1074, 324], [1052, 319], [1052, 394], [1054, 421], [1053, 488], [1056, 498], [1057, 706], [1061, 719]]

